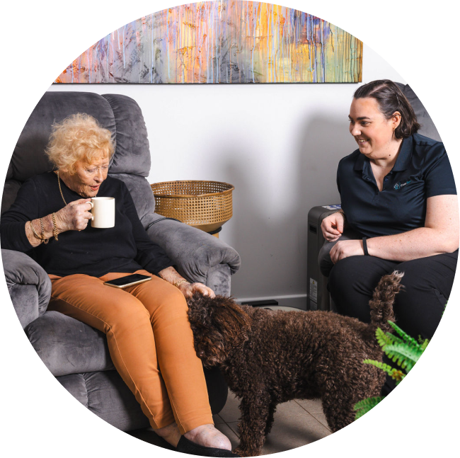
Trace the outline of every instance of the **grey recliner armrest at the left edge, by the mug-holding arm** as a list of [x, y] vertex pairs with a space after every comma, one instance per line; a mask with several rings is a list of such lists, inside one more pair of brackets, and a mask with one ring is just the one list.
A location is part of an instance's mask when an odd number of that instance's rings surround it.
[[1, 249], [8, 294], [21, 326], [45, 313], [51, 297], [51, 280], [45, 270], [21, 251]]

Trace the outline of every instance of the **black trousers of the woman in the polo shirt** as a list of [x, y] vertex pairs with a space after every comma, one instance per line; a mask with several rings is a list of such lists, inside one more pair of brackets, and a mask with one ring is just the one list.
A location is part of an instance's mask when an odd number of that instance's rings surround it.
[[[458, 251], [401, 263], [351, 256], [330, 270], [328, 289], [339, 314], [369, 323], [369, 299], [380, 278], [394, 270], [403, 272], [404, 288], [393, 306], [396, 324], [415, 339], [431, 339], [452, 292], [458, 261]], [[387, 358], [385, 362], [390, 364]], [[393, 388], [394, 382], [387, 377], [383, 394]]]

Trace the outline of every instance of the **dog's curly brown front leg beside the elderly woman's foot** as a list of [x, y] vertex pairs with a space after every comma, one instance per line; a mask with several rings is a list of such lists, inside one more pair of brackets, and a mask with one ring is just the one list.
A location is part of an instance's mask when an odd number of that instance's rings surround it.
[[270, 418], [270, 395], [260, 391], [251, 391], [251, 394], [246, 392], [241, 399], [240, 411], [240, 444], [234, 453], [240, 457], [258, 457], [265, 442]]

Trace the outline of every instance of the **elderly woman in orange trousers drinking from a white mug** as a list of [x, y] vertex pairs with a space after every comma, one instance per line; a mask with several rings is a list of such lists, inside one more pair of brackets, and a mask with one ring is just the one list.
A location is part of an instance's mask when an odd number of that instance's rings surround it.
[[[151, 427], [178, 452], [232, 457], [214, 428], [202, 363], [193, 348], [185, 297], [214, 295], [190, 284], [144, 231], [126, 185], [108, 177], [110, 132], [89, 115], [53, 126], [55, 170], [25, 182], [0, 219], [0, 245], [27, 251], [52, 281], [48, 309], [103, 331], [110, 356]], [[115, 227], [96, 229], [91, 197], [115, 197]], [[117, 289], [130, 273], [151, 281]]]

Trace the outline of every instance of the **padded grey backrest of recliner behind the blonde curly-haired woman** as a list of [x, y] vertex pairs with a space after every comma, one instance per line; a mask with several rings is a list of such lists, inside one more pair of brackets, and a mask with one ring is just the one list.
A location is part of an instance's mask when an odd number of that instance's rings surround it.
[[[52, 124], [74, 113], [88, 113], [112, 132], [116, 147], [110, 162], [111, 176], [120, 174], [123, 181], [136, 183], [134, 188], [139, 187], [137, 183], [141, 182], [128, 176], [149, 176], [149, 140], [144, 117], [136, 101], [120, 94], [101, 96], [91, 92], [47, 91], [30, 113], [11, 155], [1, 197], [1, 213], [11, 206], [25, 180], [52, 170], [44, 152]], [[128, 185], [128, 188], [131, 190], [133, 186]], [[151, 202], [154, 204], [153, 195], [146, 197], [149, 197], [149, 205]], [[142, 203], [145, 206], [145, 202]], [[150, 211], [153, 212], [152, 209]]]

